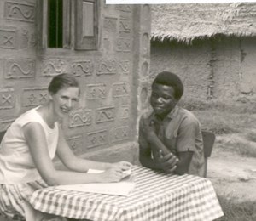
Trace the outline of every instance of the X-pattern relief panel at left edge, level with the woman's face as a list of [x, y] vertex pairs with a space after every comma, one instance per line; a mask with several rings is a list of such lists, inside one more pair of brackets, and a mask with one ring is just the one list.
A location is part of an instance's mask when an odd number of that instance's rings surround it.
[[15, 89], [0, 88], [0, 110], [15, 107]]

